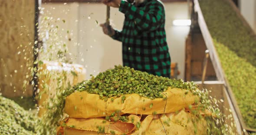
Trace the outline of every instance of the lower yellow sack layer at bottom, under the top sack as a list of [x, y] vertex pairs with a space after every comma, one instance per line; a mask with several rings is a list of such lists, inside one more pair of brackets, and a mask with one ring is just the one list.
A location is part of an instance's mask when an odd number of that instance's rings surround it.
[[[165, 115], [148, 115], [141, 120], [140, 117], [130, 115], [129, 122], [106, 122], [103, 118], [66, 119], [66, 127], [59, 127], [57, 135], [98, 135], [98, 126], [105, 127], [105, 134], [115, 132], [115, 135], [205, 135], [207, 134], [207, 123], [205, 119], [192, 122], [193, 115], [184, 110], [179, 113], [167, 113]], [[134, 124], [131, 123], [133, 117]], [[71, 126], [71, 127], [70, 127]]]

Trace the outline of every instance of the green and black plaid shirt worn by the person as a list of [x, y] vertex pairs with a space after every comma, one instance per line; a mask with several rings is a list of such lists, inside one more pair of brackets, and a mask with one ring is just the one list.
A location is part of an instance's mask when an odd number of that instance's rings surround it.
[[164, 29], [164, 6], [158, 0], [144, 0], [138, 6], [121, 1], [125, 14], [122, 31], [113, 39], [122, 42], [124, 66], [163, 77], [171, 76], [171, 58]]

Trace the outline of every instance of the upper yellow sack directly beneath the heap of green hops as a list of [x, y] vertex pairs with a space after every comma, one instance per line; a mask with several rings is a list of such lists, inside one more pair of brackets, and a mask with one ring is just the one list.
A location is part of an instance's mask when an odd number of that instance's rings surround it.
[[188, 107], [195, 100], [199, 101], [197, 96], [186, 90], [177, 88], [168, 88], [163, 92], [164, 98], [154, 100], [139, 96], [138, 94], [127, 94], [124, 103], [121, 103], [121, 97], [108, 98], [107, 102], [101, 100], [98, 94], [90, 94], [86, 91], [75, 92], [66, 97], [65, 113], [70, 118], [95, 118], [110, 116], [116, 110], [122, 114], [152, 115], [172, 113]]

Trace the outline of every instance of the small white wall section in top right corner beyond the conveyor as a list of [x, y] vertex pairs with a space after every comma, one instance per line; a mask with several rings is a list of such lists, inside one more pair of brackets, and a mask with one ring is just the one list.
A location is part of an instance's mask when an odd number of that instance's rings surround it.
[[240, 11], [256, 33], [256, 0], [240, 0]]

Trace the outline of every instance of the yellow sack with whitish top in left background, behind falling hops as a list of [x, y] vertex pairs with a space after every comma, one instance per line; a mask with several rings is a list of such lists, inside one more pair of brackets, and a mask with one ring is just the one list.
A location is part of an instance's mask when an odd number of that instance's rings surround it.
[[[73, 72], [73, 74], [72, 74]], [[68, 87], [68, 84], [75, 85], [82, 80], [85, 80], [85, 68], [79, 64], [66, 64], [53, 61], [43, 61], [39, 70], [39, 93], [38, 93], [38, 116], [41, 117], [47, 111], [44, 103], [56, 94], [56, 88], [59, 87], [58, 77], [66, 76], [66, 80], [62, 82], [63, 88]], [[76, 75], [74, 75], [74, 73]], [[47, 85], [46, 85], [47, 84]], [[46, 90], [43, 88], [47, 86]]]

